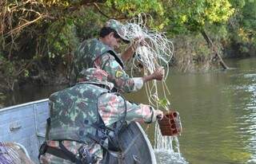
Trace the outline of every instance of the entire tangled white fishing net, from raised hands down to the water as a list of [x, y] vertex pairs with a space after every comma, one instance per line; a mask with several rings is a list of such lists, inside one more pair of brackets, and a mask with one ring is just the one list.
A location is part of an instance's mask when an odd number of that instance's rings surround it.
[[[148, 20], [148, 18], [150, 19]], [[150, 15], [138, 14], [125, 25], [126, 37], [131, 40], [131, 45], [136, 45], [134, 41], [140, 42], [144, 39], [144, 46], [133, 47], [135, 55], [131, 61], [131, 76], [133, 76], [134, 69], [139, 69], [137, 63], [143, 65], [144, 76], [152, 74], [159, 67], [164, 67], [166, 73], [162, 80], [162, 88], [158, 88], [157, 81], [152, 80], [150, 83], [146, 83], [146, 95], [150, 105], [157, 109], [162, 107], [168, 111], [170, 109], [170, 103], [167, 99], [166, 92], [169, 95], [170, 92], [166, 86], [166, 77], [169, 73], [169, 63], [173, 57], [174, 46], [164, 33], [148, 29], [147, 25], [150, 23], [149, 21], [152, 21]], [[160, 92], [163, 94], [160, 94]], [[173, 148], [173, 141], [175, 142], [176, 149]], [[186, 163], [180, 155], [177, 136], [162, 136], [158, 123], [155, 126], [154, 150], [156, 154], [158, 152], [166, 152], [167, 150], [170, 153], [168, 156], [176, 158], [176, 162], [180, 160], [181, 163]]]

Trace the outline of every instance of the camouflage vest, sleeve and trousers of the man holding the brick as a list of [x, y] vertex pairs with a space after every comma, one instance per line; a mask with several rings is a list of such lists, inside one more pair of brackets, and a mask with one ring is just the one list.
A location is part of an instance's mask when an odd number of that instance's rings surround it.
[[[72, 88], [66, 88], [55, 92], [50, 100], [50, 127], [48, 145], [58, 147], [54, 139], [64, 139], [64, 145], [68, 150], [77, 154], [78, 147], [82, 143], [68, 141], [85, 141], [90, 153], [94, 154], [98, 161], [102, 159], [102, 148], [86, 138], [86, 133], [94, 133], [91, 123], [102, 119], [106, 127], [111, 128], [113, 123], [125, 115], [126, 122], [133, 120], [150, 122], [153, 109], [145, 104], [130, 103], [115, 93], [110, 93], [105, 88], [95, 84], [79, 83]], [[42, 163], [72, 163], [51, 154], [44, 154], [40, 158]]]

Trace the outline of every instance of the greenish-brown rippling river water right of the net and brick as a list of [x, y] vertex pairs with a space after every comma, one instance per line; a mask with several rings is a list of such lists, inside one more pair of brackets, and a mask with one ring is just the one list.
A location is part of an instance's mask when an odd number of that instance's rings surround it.
[[[179, 141], [187, 162], [256, 163], [255, 63], [234, 61], [235, 69], [226, 72], [170, 74], [168, 99], [182, 118]], [[146, 103], [143, 94], [131, 99]]]

